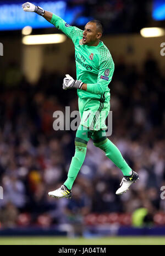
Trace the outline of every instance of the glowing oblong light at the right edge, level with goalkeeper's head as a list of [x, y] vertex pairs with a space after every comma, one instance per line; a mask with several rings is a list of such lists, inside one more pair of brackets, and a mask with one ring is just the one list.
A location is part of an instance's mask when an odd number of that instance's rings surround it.
[[140, 30], [140, 34], [144, 38], [157, 38], [165, 35], [165, 30], [162, 28], [143, 28]]

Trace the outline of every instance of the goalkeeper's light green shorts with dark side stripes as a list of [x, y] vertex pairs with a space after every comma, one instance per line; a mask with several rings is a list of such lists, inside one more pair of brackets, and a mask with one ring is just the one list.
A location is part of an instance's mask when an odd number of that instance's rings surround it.
[[109, 110], [109, 102], [79, 98], [80, 124], [92, 131], [107, 130], [105, 121]]

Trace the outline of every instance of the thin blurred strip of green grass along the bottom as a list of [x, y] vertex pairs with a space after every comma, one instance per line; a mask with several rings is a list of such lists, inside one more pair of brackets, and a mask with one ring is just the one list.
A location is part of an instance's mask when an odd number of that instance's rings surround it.
[[0, 245], [165, 245], [165, 237], [0, 237]]

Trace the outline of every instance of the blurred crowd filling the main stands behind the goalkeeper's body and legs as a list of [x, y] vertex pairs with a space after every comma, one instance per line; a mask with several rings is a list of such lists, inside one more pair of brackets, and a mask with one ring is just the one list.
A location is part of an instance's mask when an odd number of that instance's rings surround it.
[[[63, 77], [44, 71], [33, 86], [14, 63], [1, 75], [0, 200], [1, 227], [84, 223], [91, 213], [133, 214], [145, 207], [149, 220], [165, 210], [160, 188], [165, 185], [164, 74], [151, 54], [142, 70], [115, 61], [111, 88], [113, 132], [109, 137], [140, 181], [116, 196], [122, 172], [94, 147], [87, 146], [73, 198], [48, 198], [67, 178], [74, 156], [75, 131], [54, 131], [53, 113], [78, 109], [76, 91], [62, 89]], [[68, 67], [75, 76], [74, 67]], [[13, 75], [14, 74], [14, 75]], [[77, 226], [78, 227], [78, 226]]]

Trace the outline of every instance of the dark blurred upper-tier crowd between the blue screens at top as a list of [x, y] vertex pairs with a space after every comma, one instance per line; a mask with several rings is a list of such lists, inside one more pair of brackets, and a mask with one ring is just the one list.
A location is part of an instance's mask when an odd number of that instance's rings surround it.
[[135, 33], [151, 21], [151, 0], [69, 0], [68, 4], [83, 6], [84, 15], [101, 20], [106, 33]]

